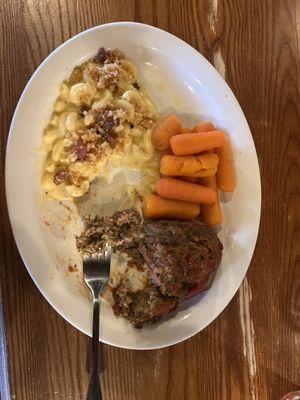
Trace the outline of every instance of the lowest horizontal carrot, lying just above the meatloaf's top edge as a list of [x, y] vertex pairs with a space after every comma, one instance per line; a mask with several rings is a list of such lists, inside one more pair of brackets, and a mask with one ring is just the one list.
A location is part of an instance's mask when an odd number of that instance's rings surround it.
[[197, 203], [164, 199], [155, 194], [143, 199], [143, 213], [150, 218], [195, 219], [200, 212]]

